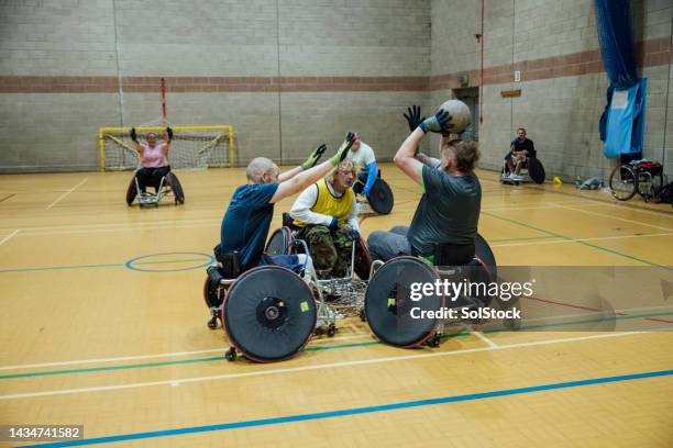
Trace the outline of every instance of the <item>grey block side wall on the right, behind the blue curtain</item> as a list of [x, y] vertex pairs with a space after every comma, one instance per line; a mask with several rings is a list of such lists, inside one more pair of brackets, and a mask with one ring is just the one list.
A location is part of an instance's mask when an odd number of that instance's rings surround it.
[[[522, 65], [530, 60], [578, 55], [599, 48], [592, 0], [486, 0], [484, 2], [484, 67]], [[481, 67], [479, 1], [432, 0], [431, 74], [467, 72]], [[670, 37], [673, 4], [666, 0], [632, 1], [633, 33], [638, 42]], [[604, 72], [514, 82], [487, 82], [482, 90], [483, 119], [479, 139], [482, 166], [499, 168], [517, 127], [527, 127], [548, 173], [566, 179], [598, 176], [607, 179], [611, 160], [603, 156], [598, 119], [605, 107]], [[671, 64], [641, 69], [649, 79], [644, 156], [664, 160], [673, 178], [673, 88]], [[471, 79], [472, 85], [478, 81]], [[521, 97], [506, 99], [504, 90], [521, 89]], [[437, 107], [451, 89], [433, 91]]]

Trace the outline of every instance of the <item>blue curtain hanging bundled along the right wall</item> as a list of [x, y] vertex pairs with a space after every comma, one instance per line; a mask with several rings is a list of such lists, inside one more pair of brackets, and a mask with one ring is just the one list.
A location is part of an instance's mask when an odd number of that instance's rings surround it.
[[[610, 81], [598, 125], [604, 153], [607, 157], [642, 153], [647, 80], [639, 79], [636, 70], [629, 1], [595, 0], [595, 3], [603, 65]], [[616, 91], [620, 94], [615, 107]]]

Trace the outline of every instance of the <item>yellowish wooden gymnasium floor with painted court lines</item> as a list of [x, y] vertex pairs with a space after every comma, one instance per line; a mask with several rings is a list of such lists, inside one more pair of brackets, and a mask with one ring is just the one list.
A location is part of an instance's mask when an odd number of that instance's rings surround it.
[[[365, 234], [408, 223], [420, 195], [383, 172], [396, 205]], [[349, 320], [289, 361], [227, 362], [202, 266], [244, 172], [178, 175], [187, 203], [146, 210], [124, 203], [129, 172], [0, 177], [0, 424], [82, 424], [111, 446], [673, 446], [668, 332], [465, 333], [404, 350]], [[499, 265], [671, 270], [670, 206], [479, 175]]]

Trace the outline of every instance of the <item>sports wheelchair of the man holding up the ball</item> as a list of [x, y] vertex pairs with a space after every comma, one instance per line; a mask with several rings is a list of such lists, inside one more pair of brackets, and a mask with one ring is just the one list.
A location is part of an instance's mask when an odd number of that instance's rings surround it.
[[[411, 300], [412, 283], [432, 283], [449, 280], [457, 283], [468, 279], [473, 283], [490, 283], [497, 279], [495, 256], [486, 240], [477, 234], [474, 243], [474, 256], [471, 259], [456, 259], [455, 248], [465, 253], [465, 246], [439, 245], [434, 250], [434, 266], [411, 256], [401, 256], [386, 261], [374, 261], [373, 276], [365, 292], [365, 315], [372, 332], [382, 341], [397, 347], [418, 347], [423, 344], [438, 347], [442, 333], [448, 325], [481, 325], [483, 322], [461, 318], [413, 318], [416, 314], [437, 312], [443, 309], [478, 312], [488, 306], [490, 299], [486, 291], [474, 295], [461, 294], [448, 298], [433, 292], [423, 295], [421, 300]], [[470, 250], [467, 250], [468, 253]], [[478, 290], [478, 289], [477, 289]], [[499, 300], [499, 299], [498, 299]], [[448, 304], [448, 302], [452, 302]], [[501, 309], [510, 309], [511, 304], [499, 303]], [[505, 321], [504, 325], [510, 329], [518, 329], [518, 320]]]

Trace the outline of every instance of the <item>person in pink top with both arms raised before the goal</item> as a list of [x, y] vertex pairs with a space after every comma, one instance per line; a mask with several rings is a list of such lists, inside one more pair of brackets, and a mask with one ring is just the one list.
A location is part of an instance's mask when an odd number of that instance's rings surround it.
[[170, 149], [170, 141], [173, 139], [173, 130], [166, 127], [164, 142], [157, 142], [155, 133], [147, 134], [147, 144], [142, 144], [137, 141], [135, 127], [131, 130], [131, 139], [135, 143], [135, 150], [140, 156], [140, 169], [135, 172], [141, 192], [145, 192], [147, 187], [154, 187], [158, 190], [162, 178], [170, 172], [168, 165], [168, 150]]

